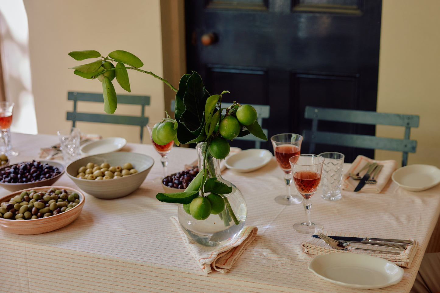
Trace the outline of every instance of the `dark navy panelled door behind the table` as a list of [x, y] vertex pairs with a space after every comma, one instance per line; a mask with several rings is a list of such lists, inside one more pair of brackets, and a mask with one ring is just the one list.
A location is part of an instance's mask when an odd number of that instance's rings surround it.
[[[224, 101], [270, 105], [269, 136], [310, 129], [306, 105], [376, 110], [380, 0], [187, 0], [185, 11], [188, 72], [198, 72], [210, 94], [229, 90]], [[209, 45], [201, 42], [206, 33], [215, 36]], [[374, 127], [323, 127], [374, 134]], [[272, 151], [270, 142], [261, 147]], [[373, 157], [343, 150], [347, 162]]]

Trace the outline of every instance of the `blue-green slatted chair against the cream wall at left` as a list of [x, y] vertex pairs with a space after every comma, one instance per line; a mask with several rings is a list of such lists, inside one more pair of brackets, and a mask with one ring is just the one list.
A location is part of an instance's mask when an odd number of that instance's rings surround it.
[[140, 142], [142, 143], [143, 129], [148, 124], [148, 117], [145, 116], [145, 106], [150, 105], [149, 96], [117, 95], [118, 104], [140, 105], [142, 107], [140, 116], [77, 112], [78, 101], [103, 103], [104, 99], [102, 93], [94, 94], [94, 93], [68, 92], [67, 99], [69, 101], [73, 101], [73, 112], [67, 112], [67, 120], [72, 121], [72, 127], [75, 127], [77, 121], [137, 125], [140, 127], [139, 138], [140, 138]]

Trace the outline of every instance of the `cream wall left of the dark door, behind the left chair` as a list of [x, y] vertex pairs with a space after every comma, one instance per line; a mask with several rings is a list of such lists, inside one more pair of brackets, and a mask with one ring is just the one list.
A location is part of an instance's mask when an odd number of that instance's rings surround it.
[[[163, 75], [159, 0], [24, 0], [24, 4], [39, 133], [56, 134], [60, 127], [71, 126], [66, 121], [66, 112], [73, 109], [68, 91], [102, 93], [98, 80], [83, 79], [69, 69], [94, 59], [76, 61], [68, 55], [70, 51], [93, 49], [104, 56], [114, 50], [129, 51], [143, 61], [142, 69]], [[128, 74], [131, 94], [151, 97], [146, 109], [150, 121], [163, 118], [163, 83], [140, 72], [129, 70]], [[116, 80], [114, 87], [117, 94], [128, 94]], [[82, 110], [103, 113], [103, 105], [87, 105]], [[118, 105], [115, 114], [129, 112], [140, 113], [140, 108]], [[139, 127], [105, 123], [78, 123], [77, 127], [84, 133], [139, 142]], [[148, 136], [145, 129], [145, 143]]]

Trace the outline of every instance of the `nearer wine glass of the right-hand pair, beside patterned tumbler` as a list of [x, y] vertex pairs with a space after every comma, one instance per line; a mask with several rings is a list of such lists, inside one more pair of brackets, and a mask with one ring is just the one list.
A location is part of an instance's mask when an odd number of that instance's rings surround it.
[[324, 158], [318, 155], [298, 155], [289, 159], [293, 170], [293, 182], [298, 192], [304, 197], [304, 222], [293, 224], [293, 229], [304, 234], [316, 234], [323, 229], [323, 225], [310, 221], [310, 208], [312, 206], [312, 195], [318, 189], [321, 181]]

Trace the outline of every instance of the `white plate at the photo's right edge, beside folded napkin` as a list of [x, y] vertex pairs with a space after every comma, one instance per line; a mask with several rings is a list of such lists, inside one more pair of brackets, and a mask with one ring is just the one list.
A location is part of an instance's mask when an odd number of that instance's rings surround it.
[[391, 178], [402, 188], [422, 191], [440, 183], [440, 169], [431, 165], [408, 165], [394, 171]]

